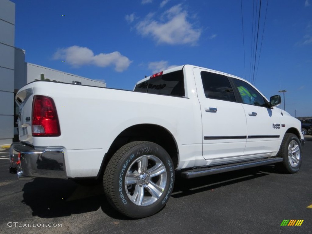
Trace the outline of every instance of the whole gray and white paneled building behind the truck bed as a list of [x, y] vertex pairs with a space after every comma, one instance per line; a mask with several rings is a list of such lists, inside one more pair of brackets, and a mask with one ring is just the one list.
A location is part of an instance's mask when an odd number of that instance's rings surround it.
[[91, 80], [51, 68], [25, 62], [25, 51], [14, 46], [15, 3], [0, 0], [0, 147], [12, 143], [18, 108], [16, 92], [35, 80], [81, 83], [106, 87], [104, 82]]

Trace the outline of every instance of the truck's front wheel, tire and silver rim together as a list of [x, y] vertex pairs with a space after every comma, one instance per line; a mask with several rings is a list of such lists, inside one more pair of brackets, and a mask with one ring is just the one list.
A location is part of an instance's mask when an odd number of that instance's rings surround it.
[[285, 134], [277, 157], [283, 158], [283, 162], [276, 164], [281, 172], [296, 173], [299, 171], [302, 162], [302, 147], [295, 134]]

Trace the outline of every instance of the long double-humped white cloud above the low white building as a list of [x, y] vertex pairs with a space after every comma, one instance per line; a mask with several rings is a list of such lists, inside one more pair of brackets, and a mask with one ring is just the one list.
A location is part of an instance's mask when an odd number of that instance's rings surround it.
[[118, 51], [112, 53], [100, 53], [94, 55], [93, 51], [87, 47], [71, 46], [58, 49], [53, 56], [54, 60], [62, 59], [74, 67], [83, 65], [95, 65], [99, 67], [115, 66], [115, 71], [126, 70], [132, 61], [123, 56]]

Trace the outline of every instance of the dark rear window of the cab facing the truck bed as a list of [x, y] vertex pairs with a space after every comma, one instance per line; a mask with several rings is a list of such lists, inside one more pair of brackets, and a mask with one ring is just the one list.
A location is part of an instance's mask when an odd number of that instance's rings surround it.
[[135, 92], [184, 97], [183, 70], [170, 72], [146, 80], [134, 88]]

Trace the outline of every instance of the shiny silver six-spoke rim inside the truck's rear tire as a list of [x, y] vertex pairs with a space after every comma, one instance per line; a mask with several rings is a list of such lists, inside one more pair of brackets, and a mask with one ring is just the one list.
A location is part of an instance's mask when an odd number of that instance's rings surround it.
[[154, 155], [137, 158], [126, 172], [124, 186], [129, 199], [138, 206], [148, 206], [163, 194], [167, 171], [163, 162]]

